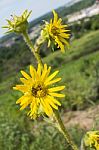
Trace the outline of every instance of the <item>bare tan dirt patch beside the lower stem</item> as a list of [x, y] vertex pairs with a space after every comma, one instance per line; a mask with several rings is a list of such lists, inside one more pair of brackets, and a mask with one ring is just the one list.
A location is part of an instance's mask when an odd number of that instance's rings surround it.
[[67, 127], [78, 125], [88, 130], [95, 126], [99, 129], [99, 105], [84, 111], [67, 112], [63, 120]]

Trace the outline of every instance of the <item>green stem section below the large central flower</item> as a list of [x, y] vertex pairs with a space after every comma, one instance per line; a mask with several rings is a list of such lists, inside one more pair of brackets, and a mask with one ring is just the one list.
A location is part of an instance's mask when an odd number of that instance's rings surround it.
[[59, 130], [62, 132], [62, 134], [64, 135], [66, 141], [68, 142], [68, 144], [72, 147], [72, 150], [78, 150], [77, 146], [75, 145], [75, 143], [72, 141], [68, 131], [66, 130], [63, 121], [59, 115], [59, 112], [57, 110], [54, 110], [54, 114], [55, 114], [55, 118], [56, 121], [58, 121], [58, 125], [59, 125]]

